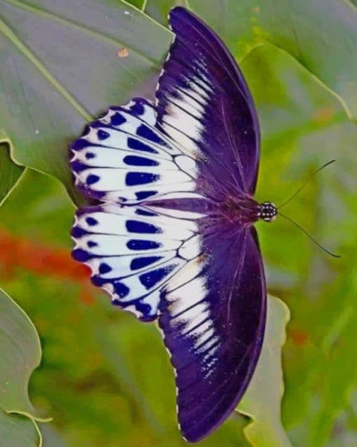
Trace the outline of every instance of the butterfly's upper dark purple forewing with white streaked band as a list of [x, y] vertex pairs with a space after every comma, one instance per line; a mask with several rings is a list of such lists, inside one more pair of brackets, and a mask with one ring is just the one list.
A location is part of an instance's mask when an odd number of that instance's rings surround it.
[[231, 192], [253, 194], [260, 134], [253, 99], [235, 60], [216, 34], [188, 10], [172, 9], [174, 42], [160, 76], [158, 123], [208, 163], [202, 176], [226, 178]]

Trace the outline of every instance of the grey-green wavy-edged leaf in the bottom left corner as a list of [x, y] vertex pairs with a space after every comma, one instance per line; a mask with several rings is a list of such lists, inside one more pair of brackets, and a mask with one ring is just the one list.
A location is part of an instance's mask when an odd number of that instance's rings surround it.
[[[41, 360], [40, 341], [25, 312], [2, 290], [0, 353], [0, 445], [40, 446], [41, 434], [31, 416], [33, 408], [27, 390], [29, 378]], [[21, 444], [20, 439], [27, 440], [27, 444]]]

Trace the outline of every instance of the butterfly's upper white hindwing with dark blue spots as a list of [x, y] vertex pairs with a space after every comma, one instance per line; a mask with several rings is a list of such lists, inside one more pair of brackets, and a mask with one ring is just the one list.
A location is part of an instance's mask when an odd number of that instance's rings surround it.
[[[188, 107], [193, 111], [192, 104]], [[197, 107], [195, 111], [200, 115]], [[185, 119], [187, 126], [197, 128], [197, 118], [188, 122], [188, 115], [183, 118], [177, 113], [178, 120]], [[195, 192], [196, 148], [160, 131], [156, 119], [155, 108], [148, 101], [133, 99], [127, 106], [109, 108], [92, 122], [71, 145], [76, 185], [90, 197], [119, 204], [175, 193], [186, 198]]]

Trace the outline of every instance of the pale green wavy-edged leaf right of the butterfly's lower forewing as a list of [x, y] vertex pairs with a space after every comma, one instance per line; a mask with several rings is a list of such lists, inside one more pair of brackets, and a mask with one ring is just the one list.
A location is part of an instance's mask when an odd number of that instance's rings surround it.
[[285, 343], [285, 328], [290, 319], [286, 304], [269, 296], [267, 326], [258, 365], [237, 411], [249, 416], [252, 422], [244, 433], [252, 446], [291, 447], [281, 424], [283, 371], [281, 347]]

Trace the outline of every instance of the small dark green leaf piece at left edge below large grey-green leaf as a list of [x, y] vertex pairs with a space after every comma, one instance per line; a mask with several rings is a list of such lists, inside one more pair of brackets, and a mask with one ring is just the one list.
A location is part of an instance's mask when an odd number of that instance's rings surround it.
[[23, 171], [24, 168], [11, 159], [8, 144], [0, 143], [0, 205], [18, 183]]

